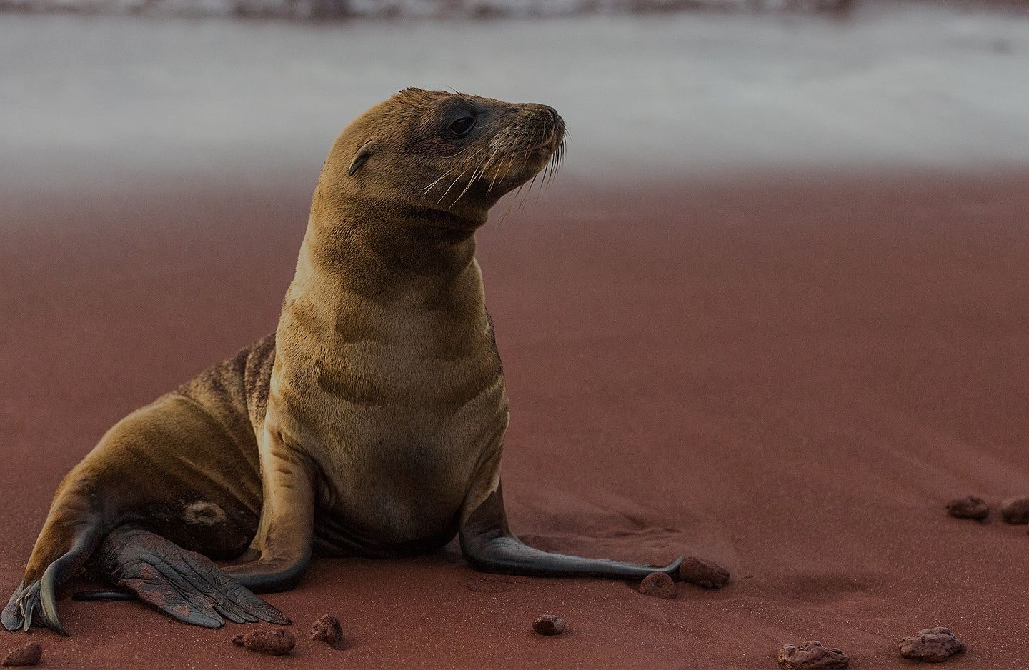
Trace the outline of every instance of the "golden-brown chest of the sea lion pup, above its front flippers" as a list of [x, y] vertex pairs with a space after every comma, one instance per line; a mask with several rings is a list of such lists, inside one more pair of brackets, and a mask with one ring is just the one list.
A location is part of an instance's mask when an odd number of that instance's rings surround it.
[[442, 532], [507, 424], [481, 290], [456, 307], [410, 291], [318, 311], [287, 297], [271, 401], [318, 466], [320, 506], [369, 541]]

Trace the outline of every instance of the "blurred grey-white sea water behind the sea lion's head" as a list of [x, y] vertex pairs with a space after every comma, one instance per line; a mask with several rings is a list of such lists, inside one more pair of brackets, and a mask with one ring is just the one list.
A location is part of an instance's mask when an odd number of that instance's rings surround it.
[[933, 4], [846, 20], [7, 13], [0, 191], [169, 175], [313, 183], [340, 130], [407, 85], [551, 104], [569, 128], [562, 174], [605, 181], [1024, 168], [1027, 73], [1029, 17]]

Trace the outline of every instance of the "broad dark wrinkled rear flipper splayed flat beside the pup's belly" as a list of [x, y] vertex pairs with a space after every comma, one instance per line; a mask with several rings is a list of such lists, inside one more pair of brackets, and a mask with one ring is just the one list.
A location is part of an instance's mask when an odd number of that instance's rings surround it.
[[281, 611], [227, 576], [210, 559], [161, 535], [123, 528], [97, 552], [113, 581], [140, 600], [186, 624], [221, 628], [224, 619], [244, 624], [289, 624]]

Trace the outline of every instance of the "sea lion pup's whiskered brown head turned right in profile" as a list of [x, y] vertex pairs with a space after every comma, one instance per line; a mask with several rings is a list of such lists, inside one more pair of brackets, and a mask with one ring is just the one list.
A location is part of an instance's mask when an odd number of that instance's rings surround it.
[[557, 169], [564, 136], [564, 120], [546, 105], [404, 89], [336, 139], [315, 209], [320, 200], [336, 210], [385, 207], [474, 228], [504, 193]]

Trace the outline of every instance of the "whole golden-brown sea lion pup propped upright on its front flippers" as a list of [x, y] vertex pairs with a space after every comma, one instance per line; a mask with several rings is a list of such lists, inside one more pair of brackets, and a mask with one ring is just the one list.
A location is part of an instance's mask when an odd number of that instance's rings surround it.
[[87, 563], [210, 628], [288, 623], [252, 591], [291, 588], [313, 552], [398, 557], [460, 534], [485, 571], [654, 571], [532, 549], [504, 515], [507, 397], [474, 232], [563, 138], [551, 107], [417, 89], [351, 124], [276, 332], [103, 436], [61, 483], [3, 625], [63, 632], [55, 589]]

